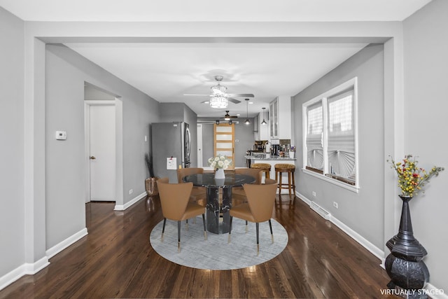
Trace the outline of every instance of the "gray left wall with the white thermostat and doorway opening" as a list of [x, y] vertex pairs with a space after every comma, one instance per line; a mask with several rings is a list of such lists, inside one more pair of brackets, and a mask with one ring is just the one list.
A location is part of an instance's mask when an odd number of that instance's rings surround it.
[[[84, 82], [123, 101], [123, 204], [145, 192], [144, 154], [158, 102], [62, 45], [48, 45], [45, 62], [47, 249], [85, 228]], [[67, 140], [56, 141], [55, 130]], [[148, 135], [149, 136], [149, 135]], [[134, 189], [130, 195], [128, 190]]]

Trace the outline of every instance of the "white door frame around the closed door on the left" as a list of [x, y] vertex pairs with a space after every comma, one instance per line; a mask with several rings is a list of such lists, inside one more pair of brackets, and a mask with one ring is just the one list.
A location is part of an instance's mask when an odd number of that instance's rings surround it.
[[84, 101], [84, 137], [85, 137], [85, 202], [90, 202], [90, 106], [115, 106], [116, 113], [116, 209], [123, 207], [123, 102], [115, 100]]

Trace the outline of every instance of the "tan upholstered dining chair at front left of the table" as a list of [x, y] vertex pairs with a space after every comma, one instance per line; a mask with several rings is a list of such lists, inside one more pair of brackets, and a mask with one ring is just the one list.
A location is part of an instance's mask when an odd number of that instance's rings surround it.
[[202, 214], [204, 224], [204, 238], [207, 240], [205, 228], [205, 207], [195, 202], [190, 202], [189, 197], [193, 188], [193, 183], [169, 183], [168, 178], [158, 179], [160, 204], [163, 214], [162, 238], [165, 233], [167, 219], [177, 221], [177, 251], [181, 251], [181, 221], [187, 221]]

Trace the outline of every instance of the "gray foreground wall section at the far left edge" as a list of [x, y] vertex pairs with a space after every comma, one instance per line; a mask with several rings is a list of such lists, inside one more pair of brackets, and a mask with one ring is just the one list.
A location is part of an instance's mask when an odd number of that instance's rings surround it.
[[24, 263], [24, 22], [0, 7], [0, 277]]

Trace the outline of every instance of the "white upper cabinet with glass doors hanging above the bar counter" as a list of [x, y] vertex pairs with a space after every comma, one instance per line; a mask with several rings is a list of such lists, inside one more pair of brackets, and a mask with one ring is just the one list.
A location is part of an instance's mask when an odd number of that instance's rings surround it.
[[291, 98], [276, 97], [269, 104], [269, 127], [271, 139], [291, 139]]

